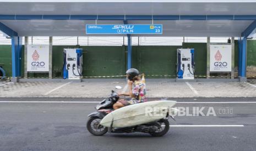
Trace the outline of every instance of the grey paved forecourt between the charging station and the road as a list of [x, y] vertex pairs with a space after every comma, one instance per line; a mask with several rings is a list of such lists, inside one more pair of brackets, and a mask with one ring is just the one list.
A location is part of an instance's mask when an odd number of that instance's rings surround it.
[[[170, 82], [146, 80], [147, 97], [256, 97], [256, 81]], [[0, 97], [107, 97], [122, 79], [88, 79], [86, 82], [0, 82]], [[117, 91], [122, 91], [117, 90]]]

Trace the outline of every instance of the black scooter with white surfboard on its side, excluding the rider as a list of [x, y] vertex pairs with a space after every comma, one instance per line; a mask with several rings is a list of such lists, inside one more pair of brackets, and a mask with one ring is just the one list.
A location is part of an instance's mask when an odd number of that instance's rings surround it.
[[[97, 111], [88, 115], [87, 129], [93, 135], [113, 133], [145, 132], [152, 136], [163, 136], [168, 132], [168, 117], [173, 112], [176, 101], [150, 101], [133, 104], [113, 110], [119, 99], [112, 90], [110, 97], [96, 106]], [[172, 117], [173, 118], [173, 117]]]

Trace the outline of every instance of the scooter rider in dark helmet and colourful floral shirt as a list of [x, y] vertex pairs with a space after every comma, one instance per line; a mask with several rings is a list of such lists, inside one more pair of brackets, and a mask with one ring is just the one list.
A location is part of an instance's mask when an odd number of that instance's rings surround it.
[[129, 96], [129, 98], [122, 98], [113, 104], [114, 109], [118, 109], [130, 104], [146, 102], [146, 85], [141, 82], [139, 71], [134, 68], [130, 68], [126, 71], [128, 80], [128, 92], [120, 93], [120, 95]]

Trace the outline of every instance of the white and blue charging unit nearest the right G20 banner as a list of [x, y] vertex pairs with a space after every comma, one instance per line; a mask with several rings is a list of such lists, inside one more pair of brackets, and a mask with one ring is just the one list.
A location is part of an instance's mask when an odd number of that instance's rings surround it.
[[194, 49], [177, 49], [177, 78], [194, 79]]

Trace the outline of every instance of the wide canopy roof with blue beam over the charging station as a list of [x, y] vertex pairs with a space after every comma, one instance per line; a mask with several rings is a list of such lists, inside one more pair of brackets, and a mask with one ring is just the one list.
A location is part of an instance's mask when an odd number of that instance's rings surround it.
[[[18, 36], [92, 36], [85, 25], [162, 24], [162, 34], [131, 36], [239, 37], [256, 19], [256, 3], [226, 1], [1, 1], [0, 22]], [[93, 36], [121, 36], [93, 34]], [[123, 34], [126, 36], [126, 34]]]

